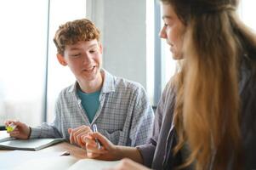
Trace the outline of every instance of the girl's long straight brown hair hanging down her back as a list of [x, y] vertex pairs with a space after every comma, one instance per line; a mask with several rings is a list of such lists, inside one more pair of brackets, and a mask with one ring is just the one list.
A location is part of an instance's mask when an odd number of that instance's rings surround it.
[[256, 56], [255, 36], [236, 16], [237, 0], [161, 0], [172, 5], [186, 26], [184, 63], [176, 77], [174, 123], [177, 153], [191, 155], [180, 167], [240, 169], [242, 57]]

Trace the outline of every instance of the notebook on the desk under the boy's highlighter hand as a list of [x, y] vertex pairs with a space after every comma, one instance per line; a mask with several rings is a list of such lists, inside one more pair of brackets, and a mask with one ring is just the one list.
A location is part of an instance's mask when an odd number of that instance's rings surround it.
[[0, 140], [0, 150], [41, 150], [50, 145], [65, 141], [65, 139], [13, 139]]

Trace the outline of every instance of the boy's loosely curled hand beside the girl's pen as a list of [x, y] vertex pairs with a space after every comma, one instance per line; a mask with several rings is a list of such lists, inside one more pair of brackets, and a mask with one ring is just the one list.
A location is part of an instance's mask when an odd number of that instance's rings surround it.
[[82, 125], [81, 127], [77, 127], [77, 128], [69, 128], [68, 133], [70, 134], [71, 144], [78, 144], [79, 146], [84, 148], [85, 143], [84, 141], [82, 141], [82, 138], [91, 132], [92, 132], [91, 128], [85, 125]]

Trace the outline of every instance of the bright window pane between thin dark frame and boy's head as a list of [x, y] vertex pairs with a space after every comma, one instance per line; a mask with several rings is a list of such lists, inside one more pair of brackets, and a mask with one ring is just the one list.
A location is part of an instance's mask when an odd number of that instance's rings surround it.
[[65, 87], [75, 82], [68, 66], [60, 65], [54, 45], [54, 35], [58, 27], [66, 21], [82, 19], [86, 16], [85, 0], [54, 0], [50, 4], [49, 13], [49, 42], [48, 42], [48, 109], [47, 122], [54, 120], [55, 101]]

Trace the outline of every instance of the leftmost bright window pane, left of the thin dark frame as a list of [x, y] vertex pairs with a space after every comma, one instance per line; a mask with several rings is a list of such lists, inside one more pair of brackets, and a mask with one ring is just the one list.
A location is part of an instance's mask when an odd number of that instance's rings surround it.
[[0, 3], [0, 124], [42, 120], [48, 2]]

